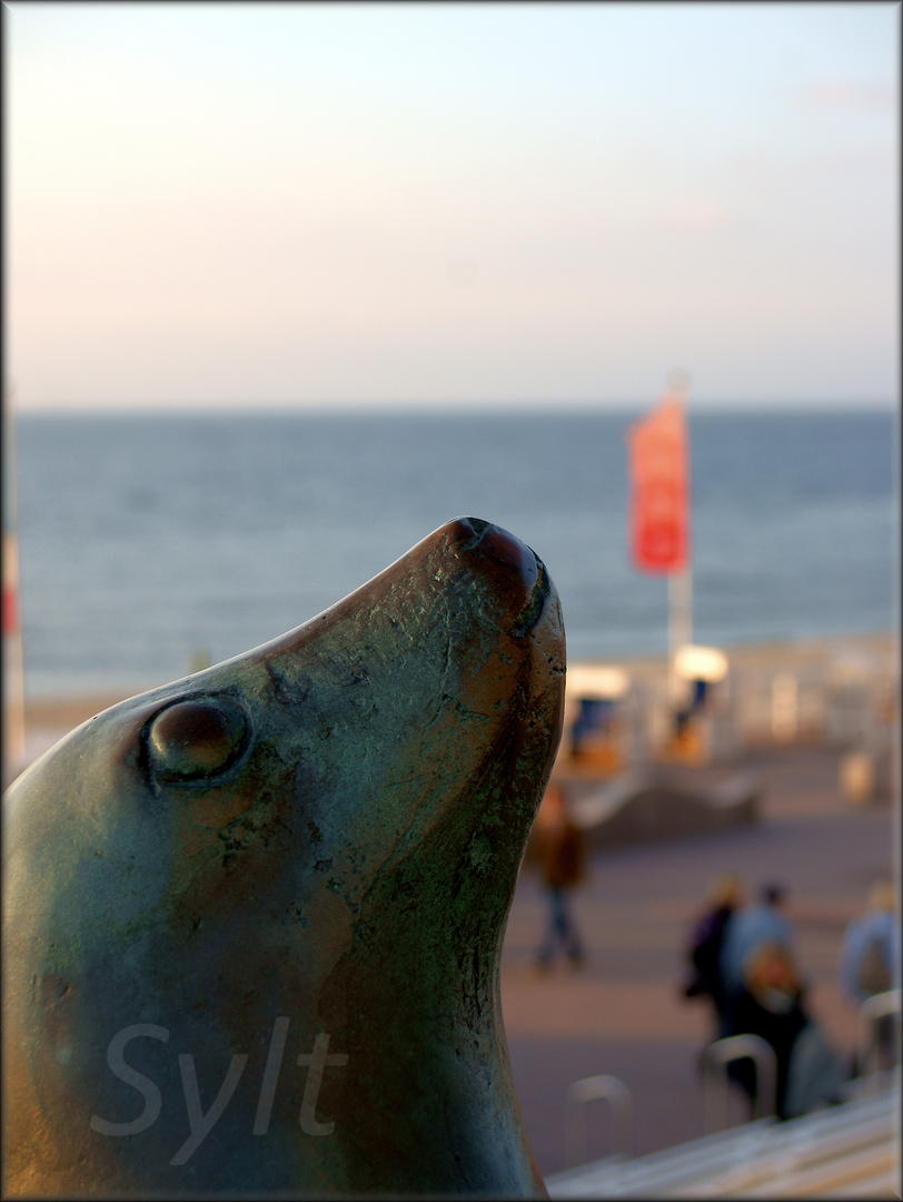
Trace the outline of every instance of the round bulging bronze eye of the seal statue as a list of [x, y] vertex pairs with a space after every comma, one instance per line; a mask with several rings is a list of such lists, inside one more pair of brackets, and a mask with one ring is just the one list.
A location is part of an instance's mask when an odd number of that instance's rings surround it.
[[229, 768], [247, 745], [244, 709], [229, 697], [181, 701], [150, 725], [151, 766], [163, 780], [201, 780]]

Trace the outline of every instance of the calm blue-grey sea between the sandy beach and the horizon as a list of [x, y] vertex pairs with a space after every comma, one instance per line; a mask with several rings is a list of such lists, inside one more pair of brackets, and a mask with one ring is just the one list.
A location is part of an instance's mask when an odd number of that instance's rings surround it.
[[[449, 518], [528, 543], [573, 660], [668, 645], [628, 540], [641, 410], [20, 413], [29, 697], [163, 684], [300, 625]], [[693, 637], [897, 627], [897, 415], [689, 406]]]

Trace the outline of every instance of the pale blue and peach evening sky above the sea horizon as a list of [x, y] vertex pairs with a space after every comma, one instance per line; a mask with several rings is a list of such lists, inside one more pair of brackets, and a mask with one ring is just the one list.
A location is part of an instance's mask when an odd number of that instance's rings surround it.
[[4, 10], [23, 411], [898, 395], [897, 5]]

